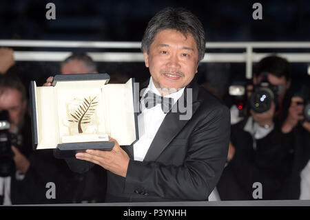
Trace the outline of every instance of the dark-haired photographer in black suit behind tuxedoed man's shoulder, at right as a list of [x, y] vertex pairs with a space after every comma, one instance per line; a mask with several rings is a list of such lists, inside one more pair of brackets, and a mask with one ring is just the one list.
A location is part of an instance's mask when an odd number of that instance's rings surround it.
[[283, 132], [282, 125], [299, 114], [298, 108], [289, 108], [290, 84], [285, 59], [270, 56], [258, 63], [253, 85], [247, 86], [249, 114], [231, 126], [228, 163], [217, 186], [222, 200], [255, 199], [257, 182], [262, 186], [260, 199], [281, 197], [294, 150], [293, 134]]

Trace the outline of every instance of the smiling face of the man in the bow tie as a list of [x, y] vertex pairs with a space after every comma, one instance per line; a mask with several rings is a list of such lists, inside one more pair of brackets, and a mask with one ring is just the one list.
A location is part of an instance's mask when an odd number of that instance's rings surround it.
[[144, 59], [156, 88], [184, 88], [197, 72], [196, 41], [192, 34], [185, 36], [176, 30], [162, 30], [156, 34], [149, 54], [144, 52]]

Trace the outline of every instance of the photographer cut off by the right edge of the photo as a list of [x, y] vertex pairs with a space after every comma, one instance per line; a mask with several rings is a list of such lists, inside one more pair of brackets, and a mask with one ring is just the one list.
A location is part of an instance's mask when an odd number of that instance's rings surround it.
[[291, 99], [282, 132], [293, 136], [293, 166], [281, 199], [310, 199], [310, 88], [304, 86]]

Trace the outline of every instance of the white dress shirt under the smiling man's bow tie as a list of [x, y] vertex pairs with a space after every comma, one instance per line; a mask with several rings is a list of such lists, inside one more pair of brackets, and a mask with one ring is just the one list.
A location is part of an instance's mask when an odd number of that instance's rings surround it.
[[[177, 92], [172, 94], [168, 94], [165, 97], [172, 98], [172, 106], [178, 101], [178, 99], [182, 96], [185, 88], [181, 88]], [[143, 93], [143, 97], [145, 94], [151, 90], [155, 94], [161, 96], [161, 93], [155, 87], [152, 77], [149, 79], [149, 86], [145, 89]], [[155, 134], [158, 131], [158, 128], [163, 123], [163, 119], [165, 118], [167, 113], [164, 113], [161, 109], [161, 105], [157, 104], [153, 108], [145, 108], [144, 103], [142, 103], [141, 114], [138, 115], [138, 130], [139, 130], [139, 139], [134, 143], [134, 160], [135, 161], [143, 161], [145, 155], [147, 154], [147, 150], [149, 150], [149, 146], [155, 137]]]

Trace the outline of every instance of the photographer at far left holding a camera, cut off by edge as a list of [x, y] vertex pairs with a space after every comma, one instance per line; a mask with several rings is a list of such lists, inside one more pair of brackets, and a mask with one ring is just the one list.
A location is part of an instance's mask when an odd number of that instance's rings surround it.
[[45, 184], [54, 181], [54, 170], [48, 166], [52, 164], [48, 157], [32, 152], [27, 98], [17, 77], [0, 76], [0, 110], [1, 124], [10, 123], [1, 126], [0, 203], [48, 203]]

